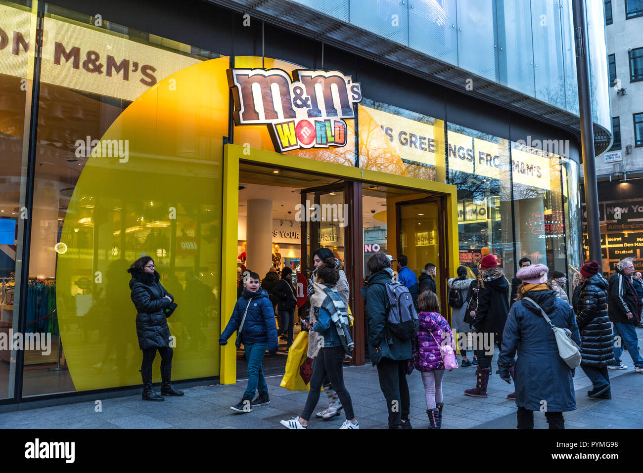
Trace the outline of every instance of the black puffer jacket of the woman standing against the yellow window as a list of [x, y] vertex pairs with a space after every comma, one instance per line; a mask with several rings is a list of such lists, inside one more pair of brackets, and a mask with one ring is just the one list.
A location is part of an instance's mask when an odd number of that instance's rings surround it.
[[136, 307], [136, 336], [141, 350], [145, 348], [163, 348], [170, 344], [170, 328], [167, 326], [165, 309], [170, 306], [170, 296], [174, 297], [159, 283], [161, 276], [147, 272], [134, 272], [129, 280], [132, 302]]

